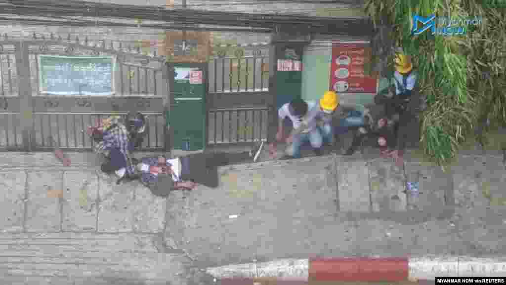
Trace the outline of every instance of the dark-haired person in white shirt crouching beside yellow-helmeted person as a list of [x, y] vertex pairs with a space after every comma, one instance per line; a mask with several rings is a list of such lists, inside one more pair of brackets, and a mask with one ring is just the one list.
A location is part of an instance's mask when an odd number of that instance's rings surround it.
[[276, 140], [272, 142], [270, 147], [271, 156], [274, 155], [277, 143], [286, 142], [291, 143], [293, 141], [292, 136], [286, 136], [285, 120], [289, 119], [292, 130], [300, 128], [303, 117], [307, 114], [308, 109], [313, 107], [314, 103], [308, 103], [303, 99], [296, 98], [288, 103], [283, 104], [278, 109], [278, 130], [276, 132]]

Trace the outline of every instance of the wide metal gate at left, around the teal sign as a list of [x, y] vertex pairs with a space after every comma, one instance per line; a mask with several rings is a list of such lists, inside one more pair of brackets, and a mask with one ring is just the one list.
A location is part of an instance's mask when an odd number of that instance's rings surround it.
[[[44, 151], [55, 146], [89, 150], [93, 147], [93, 142], [85, 134], [87, 127], [95, 125], [97, 119], [109, 115], [124, 116], [125, 113], [119, 112], [120, 110], [139, 110], [147, 114], [148, 137], [142, 148], [164, 149], [166, 123], [163, 97], [168, 92], [162, 75], [166, 69], [165, 60], [129, 54], [129, 51], [120, 48], [112, 45], [106, 47], [105, 42], [100, 46], [96, 43], [80, 43], [78, 40], [72, 43], [57, 40], [13, 43], [0, 39], [0, 150]], [[115, 93], [112, 96], [43, 94], [39, 90], [39, 55], [114, 55]], [[131, 60], [134, 58], [138, 62]], [[21, 65], [17, 66], [19, 63]], [[18, 92], [22, 88], [26, 89]], [[26, 100], [33, 105], [28, 113], [24, 106]], [[31, 121], [29, 142], [23, 138], [26, 135], [23, 135], [21, 121], [25, 122], [25, 126]]]

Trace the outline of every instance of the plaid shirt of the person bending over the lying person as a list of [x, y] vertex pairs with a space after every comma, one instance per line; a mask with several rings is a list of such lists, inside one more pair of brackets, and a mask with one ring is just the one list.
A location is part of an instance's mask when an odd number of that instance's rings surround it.
[[[130, 161], [130, 150], [132, 145], [129, 139], [129, 132], [126, 131], [122, 124], [113, 125], [112, 128], [104, 131], [103, 139], [95, 145], [95, 151], [107, 155], [106, 151], [117, 148], [125, 157], [126, 161]], [[127, 166], [126, 173], [132, 175], [135, 173], [134, 166]]]

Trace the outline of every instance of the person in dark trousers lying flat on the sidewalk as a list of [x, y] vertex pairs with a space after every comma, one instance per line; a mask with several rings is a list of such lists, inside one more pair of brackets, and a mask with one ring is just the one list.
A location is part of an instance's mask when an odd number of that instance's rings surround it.
[[197, 184], [217, 188], [219, 167], [250, 162], [262, 147], [263, 143], [245, 152], [194, 153], [172, 159], [147, 157], [137, 164], [136, 169], [141, 173], [142, 183], [157, 196], [166, 196], [175, 189], [193, 189]]

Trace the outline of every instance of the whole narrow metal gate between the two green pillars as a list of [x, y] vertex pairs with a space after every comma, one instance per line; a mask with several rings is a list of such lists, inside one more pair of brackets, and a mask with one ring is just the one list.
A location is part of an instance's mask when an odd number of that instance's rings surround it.
[[267, 140], [272, 108], [262, 100], [269, 91], [268, 64], [268, 55], [260, 56], [258, 51], [248, 56], [210, 58], [208, 96], [231, 100], [226, 106], [217, 103], [208, 109], [209, 145]]

